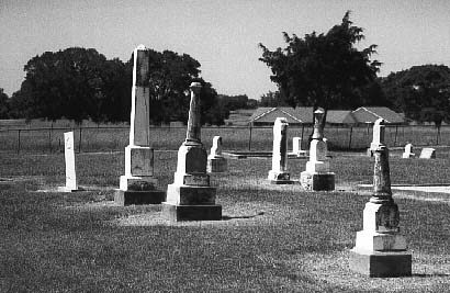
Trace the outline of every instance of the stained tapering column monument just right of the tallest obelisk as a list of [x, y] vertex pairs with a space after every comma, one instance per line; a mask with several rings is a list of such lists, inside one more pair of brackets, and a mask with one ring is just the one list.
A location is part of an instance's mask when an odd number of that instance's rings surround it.
[[185, 140], [178, 150], [173, 183], [167, 187], [162, 215], [170, 221], [222, 219], [222, 206], [215, 204], [216, 189], [210, 184], [206, 173], [207, 154], [200, 135], [199, 82], [191, 83]]

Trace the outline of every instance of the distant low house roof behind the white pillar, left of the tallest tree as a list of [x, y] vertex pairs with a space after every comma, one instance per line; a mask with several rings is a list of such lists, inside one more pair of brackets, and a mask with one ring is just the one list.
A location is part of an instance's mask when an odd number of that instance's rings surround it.
[[275, 106], [258, 108], [249, 117], [249, 123], [254, 126], [272, 126], [277, 117], [285, 117], [289, 125], [313, 124], [312, 106]]

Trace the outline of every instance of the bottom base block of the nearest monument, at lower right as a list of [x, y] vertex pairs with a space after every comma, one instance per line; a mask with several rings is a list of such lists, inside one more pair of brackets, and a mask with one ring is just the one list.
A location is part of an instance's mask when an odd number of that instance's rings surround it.
[[350, 270], [369, 277], [391, 278], [412, 275], [412, 255], [408, 251], [350, 250]]

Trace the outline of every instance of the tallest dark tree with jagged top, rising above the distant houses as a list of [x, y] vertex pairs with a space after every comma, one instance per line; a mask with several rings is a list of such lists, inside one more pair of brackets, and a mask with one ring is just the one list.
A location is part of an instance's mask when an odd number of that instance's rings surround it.
[[[362, 29], [353, 26], [350, 12], [326, 34], [313, 32], [304, 38], [283, 33], [285, 48], [269, 50], [265, 45], [261, 61], [272, 71], [270, 79], [292, 105], [355, 108], [356, 90], [374, 80], [380, 63], [370, 60], [376, 45], [358, 50], [355, 45], [364, 38]], [[326, 112], [322, 124], [325, 125]]]

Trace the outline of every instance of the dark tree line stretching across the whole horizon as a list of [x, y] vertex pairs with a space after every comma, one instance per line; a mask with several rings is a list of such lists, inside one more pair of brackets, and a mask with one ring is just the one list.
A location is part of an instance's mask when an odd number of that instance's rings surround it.
[[[150, 50], [150, 121], [153, 124], [188, 120], [189, 84], [203, 87], [202, 122], [224, 124], [229, 112], [257, 106], [313, 106], [325, 111], [353, 110], [362, 105], [389, 106], [418, 122], [450, 123], [450, 68], [445, 65], [413, 66], [378, 77], [379, 60], [372, 44], [359, 49], [363, 30], [353, 25], [350, 12], [327, 33], [283, 33], [286, 46], [262, 49], [260, 60], [272, 71], [277, 91], [260, 101], [246, 94], [217, 94], [200, 77], [200, 63], [188, 54]], [[24, 66], [25, 79], [9, 98], [0, 89], [0, 119], [69, 119], [81, 122], [130, 120], [132, 58], [106, 59], [93, 48], [72, 47], [46, 52]], [[323, 124], [325, 125], [326, 115]]]

